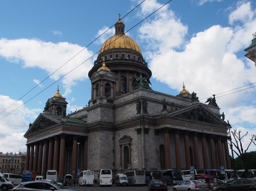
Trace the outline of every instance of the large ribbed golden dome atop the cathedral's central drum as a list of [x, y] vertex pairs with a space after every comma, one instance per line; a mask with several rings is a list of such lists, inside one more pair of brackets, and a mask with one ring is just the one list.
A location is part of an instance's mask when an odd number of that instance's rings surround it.
[[139, 45], [132, 38], [126, 36], [125, 34], [116, 34], [114, 36], [111, 36], [102, 44], [102, 46], [100, 47], [99, 54], [103, 51], [113, 48], [128, 48], [141, 53]]

